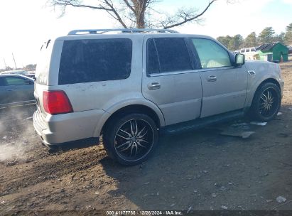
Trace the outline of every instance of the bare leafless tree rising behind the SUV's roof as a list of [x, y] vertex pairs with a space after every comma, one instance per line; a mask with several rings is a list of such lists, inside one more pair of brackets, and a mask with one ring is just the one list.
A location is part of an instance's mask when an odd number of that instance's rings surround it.
[[[209, 0], [205, 9], [198, 12], [193, 8], [181, 8], [173, 15], [156, 11], [154, 5], [159, 0], [96, 0], [90, 5], [82, 0], [48, 0], [50, 6], [62, 9], [61, 16], [65, 14], [67, 6], [106, 11], [109, 16], [118, 21], [124, 28], [173, 28], [188, 22], [200, 21], [202, 15], [217, 0]], [[230, 1], [230, 0], [229, 0]], [[234, 0], [233, 0], [234, 1]]]

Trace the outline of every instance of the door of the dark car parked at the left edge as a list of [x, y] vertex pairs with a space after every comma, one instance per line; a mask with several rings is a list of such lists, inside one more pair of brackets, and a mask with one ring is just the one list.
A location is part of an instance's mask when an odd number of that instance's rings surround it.
[[26, 102], [34, 99], [33, 81], [25, 77], [6, 76], [6, 96], [8, 103]]

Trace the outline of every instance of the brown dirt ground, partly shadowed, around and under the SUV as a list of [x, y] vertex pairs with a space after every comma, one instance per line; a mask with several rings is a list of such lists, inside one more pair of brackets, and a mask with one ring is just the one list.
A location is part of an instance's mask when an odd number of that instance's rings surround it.
[[292, 210], [292, 62], [281, 69], [282, 114], [266, 126], [239, 126], [255, 131], [248, 139], [220, 135], [234, 121], [163, 136], [139, 166], [120, 166], [102, 145], [50, 153], [33, 131], [34, 105], [0, 109], [0, 215]]

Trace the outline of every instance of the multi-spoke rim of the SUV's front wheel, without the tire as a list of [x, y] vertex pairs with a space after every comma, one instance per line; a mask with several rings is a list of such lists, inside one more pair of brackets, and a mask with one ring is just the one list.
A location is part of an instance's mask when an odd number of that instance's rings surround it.
[[269, 118], [275, 114], [279, 107], [279, 95], [273, 88], [268, 88], [261, 93], [259, 98], [259, 114]]

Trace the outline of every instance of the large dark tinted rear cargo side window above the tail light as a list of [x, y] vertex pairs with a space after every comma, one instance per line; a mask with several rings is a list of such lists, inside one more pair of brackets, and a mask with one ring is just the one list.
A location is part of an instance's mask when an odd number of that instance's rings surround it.
[[64, 41], [59, 85], [123, 80], [131, 73], [130, 39]]

